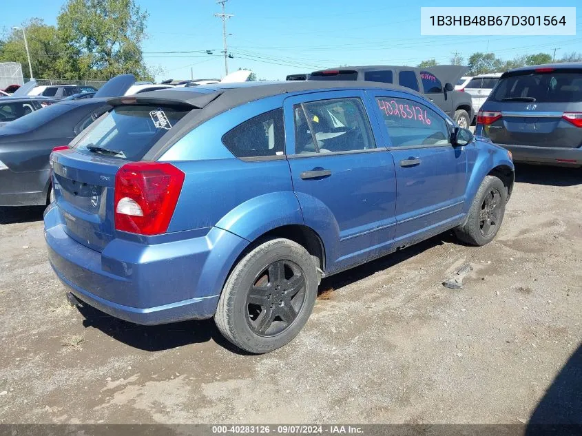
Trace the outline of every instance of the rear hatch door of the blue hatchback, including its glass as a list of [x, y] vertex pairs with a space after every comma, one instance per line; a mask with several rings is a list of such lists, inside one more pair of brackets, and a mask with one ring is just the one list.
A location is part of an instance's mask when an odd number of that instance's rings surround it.
[[131, 101], [104, 114], [73, 141], [73, 149], [51, 155], [56, 204], [63, 214], [65, 231], [96, 251], [114, 238], [118, 169], [142, 160], [193, 109], [191, 105], [138, 105], [135, 98]]

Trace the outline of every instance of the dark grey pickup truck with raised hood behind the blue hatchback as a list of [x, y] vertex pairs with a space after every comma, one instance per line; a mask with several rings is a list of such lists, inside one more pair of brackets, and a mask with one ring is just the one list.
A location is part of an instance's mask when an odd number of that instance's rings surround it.
[[[425, 96], [441, 110], [453, 118], [459, 127], [469, 127], [474, 110], [471, 96], [453, 90], [453, 83], [466, 72], [467, 67], [459, 65], [437, 65], [430, 68], [413, 68], [402, 66], [366, 66], [342, 67], [334, 70], [312, 72], [311, 81], [361, 80], [382, 83], [394, 83], [408, 87]], [[444, 85], [443, 85], [444, 83]]]

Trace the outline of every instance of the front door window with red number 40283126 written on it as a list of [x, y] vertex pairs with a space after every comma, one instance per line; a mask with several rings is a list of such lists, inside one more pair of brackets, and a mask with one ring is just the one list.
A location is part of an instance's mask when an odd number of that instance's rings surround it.
[[406, 98], [377, 97], [376, 101], [394, 147], [450, 144], [446, 121], [430, 107]]

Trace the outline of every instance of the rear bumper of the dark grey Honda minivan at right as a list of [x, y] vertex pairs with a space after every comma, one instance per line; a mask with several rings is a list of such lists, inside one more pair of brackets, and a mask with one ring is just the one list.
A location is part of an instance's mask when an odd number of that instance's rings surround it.
[[497, 144], [508, 149], [515, 162], [542, 165], [580, 166], [582, 148], [534, 147], [532, 145]]

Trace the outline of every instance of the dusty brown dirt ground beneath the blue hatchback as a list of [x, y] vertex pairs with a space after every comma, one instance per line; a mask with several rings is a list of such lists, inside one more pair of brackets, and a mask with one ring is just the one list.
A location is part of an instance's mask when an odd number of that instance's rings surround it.
[[517, 174], [490, 245], [444, 234], [328, 278], [298, 338], [258, 356], [212, 320], [69, 307], [42, 208], [0, 209], [0, 422], [582, 423], [582, 169]]

